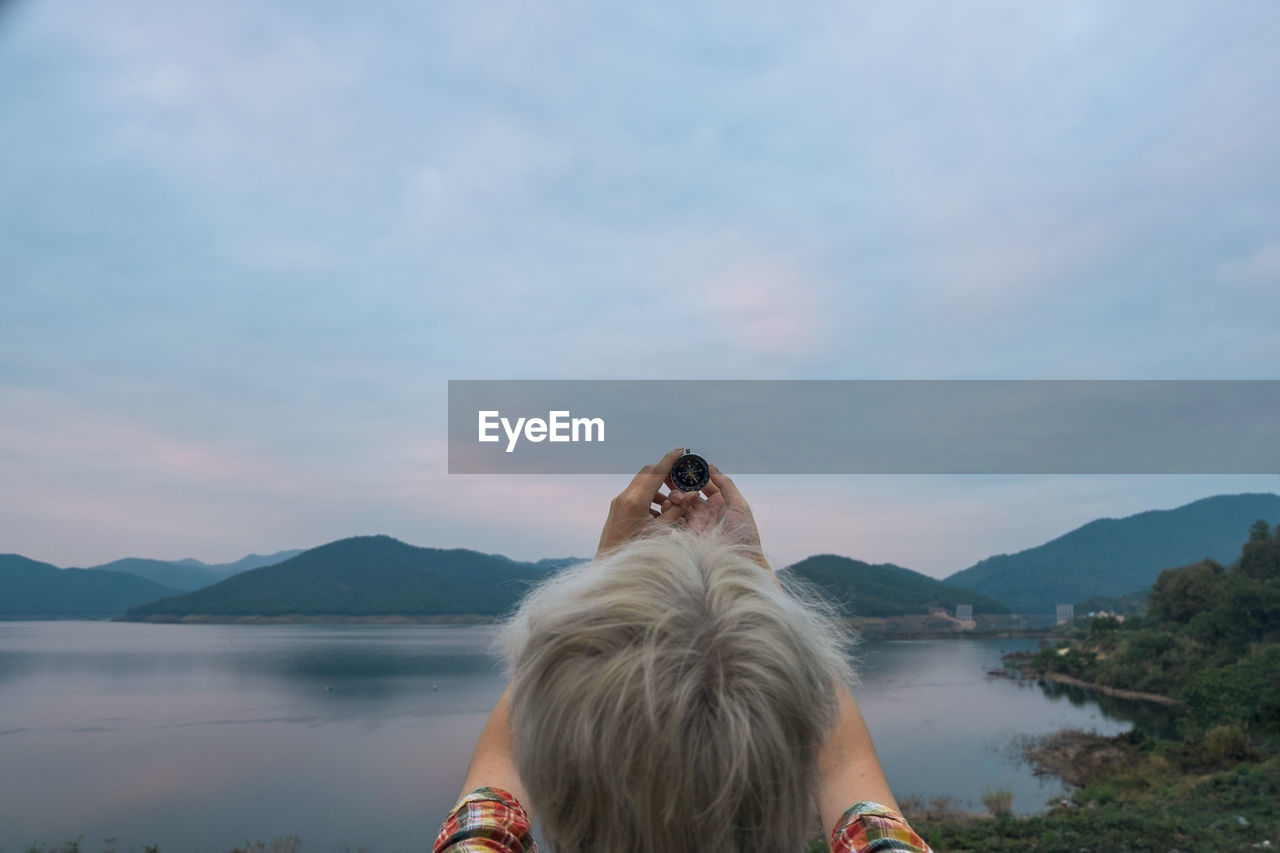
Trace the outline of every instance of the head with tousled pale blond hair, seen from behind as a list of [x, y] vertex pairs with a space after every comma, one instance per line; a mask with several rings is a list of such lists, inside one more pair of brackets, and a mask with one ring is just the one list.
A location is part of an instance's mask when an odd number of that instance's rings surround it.
[[847, 633], [716, 529], [571, 566], [499, 635], [516, 766], [557, 852], [797, 850]]

